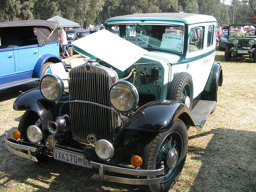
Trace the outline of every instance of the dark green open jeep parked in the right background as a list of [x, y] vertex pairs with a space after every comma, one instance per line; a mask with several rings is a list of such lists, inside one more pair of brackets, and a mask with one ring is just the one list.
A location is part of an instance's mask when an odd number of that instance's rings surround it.
[[[249, 30], [244, 30], [244, 26], [248, 24], [232, 24], [228, 28], [228, 38], [225, 49], [225, 60], [230, 61], [231, 57], [244, 58], [245, 56], [252, 57], [253, 62], [256, 62], [256, 34]], [[256, 28], [256, 25], [250, 24]], [[230, 32], [230, 30], [235, 30]]]

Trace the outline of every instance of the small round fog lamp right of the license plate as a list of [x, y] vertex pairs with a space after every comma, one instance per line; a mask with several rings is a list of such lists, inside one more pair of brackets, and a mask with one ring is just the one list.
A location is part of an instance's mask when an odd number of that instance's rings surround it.
[[95, 143], [95, 152], [100, 159], [109, 160], [114, 155], [114, 147], [108, 140], [101, 139]]

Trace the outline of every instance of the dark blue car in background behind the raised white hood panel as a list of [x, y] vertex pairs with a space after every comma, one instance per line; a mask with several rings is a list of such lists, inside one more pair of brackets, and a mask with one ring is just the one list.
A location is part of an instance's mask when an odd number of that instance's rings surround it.
[[[68, 46], [67, 46], [67, 51], [70, 56], [74, 54], [74, 50], [72, 48], [72, 44], [74, 40], [79, 39], [81, 37], [85, 37], [87, 35], [90, 35], [90, 30], [89, 29], [69, 29], [66, 30], [67, 36], [68, 36]], [[61, 51], [62, 52], [62, 51]], [[76, 53], [76, 52], [75, 52]]]

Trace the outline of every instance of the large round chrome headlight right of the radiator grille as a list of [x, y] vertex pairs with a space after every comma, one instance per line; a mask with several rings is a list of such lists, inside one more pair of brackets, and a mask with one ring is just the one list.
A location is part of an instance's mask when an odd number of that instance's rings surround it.
[[110, 88], [110, 103], [119, 112], [132, 111], [139, 102], [138, 90], [128, 81], [117, 81]]

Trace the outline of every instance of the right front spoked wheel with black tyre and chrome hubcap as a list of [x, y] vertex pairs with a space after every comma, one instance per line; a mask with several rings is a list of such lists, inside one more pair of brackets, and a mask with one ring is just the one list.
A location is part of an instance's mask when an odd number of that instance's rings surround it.
[[164, 182], [143, 185], [147, 192], [164, 192], [174, 186], [184, 166], [187, 155], [188, 136], [186, 125], [177, 119], [169, 130], [156, 135], [144, 146], [143, 168], [159, 169], [164, 162]]

